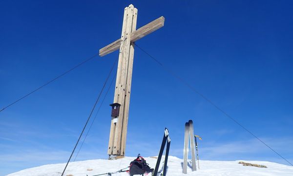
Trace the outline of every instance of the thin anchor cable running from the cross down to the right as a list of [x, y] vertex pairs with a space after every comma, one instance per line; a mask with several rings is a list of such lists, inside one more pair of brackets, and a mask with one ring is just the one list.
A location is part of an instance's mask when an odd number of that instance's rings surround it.
[[[134, 43], [135, 44], [135, 43]], [[253, 134], [251, 131], [249, 131], [247, 128], [245, 128], [243, 125], [241, 125], [238, 121], [236, 121], [233, 117], [231, 117], [227, 112], [225, 112], [224, 110], [222, 110], [221, 108], [219, 108], [215, 103], [213, 103], [211, 100], [209, 100], [209, 98], [207, 98], [205, 95], [203, 95], [202, 93], [200, 93], [199, 91], [197, 91], [194, 87], [192, 87], [190, 84], [188, 84], [188, 82], [186, 82], [184, 79], [182, 79], [180, 76], [178, 76], [173, 70], [171, 70], [170, 68], [164, 66], [161, 62], [159, 62], [157, 59], [155, 59], [153, 56], [151, 56], [150, 54], [148, 54], [146, 52], [146, 50], [144, 50], [143, 48], [141, 48], [139, 45], [135, 44], [140, 50], [142, 50], [146, 55], [148, 55], [151, 59], [153, 59], [157, 64], [159, 64], [160, 66], [162, 66], [168, 73], [170, 73], [173, 77], [175, 77], [176, 79], [178, 79], [181, 83], [183, 83], [184, 85], [186, 85], [188, 88], [190, 88], [193, 92], [197, 93], [198, 95], [200, 95], [203, 99], [205, 99], [207, 102], [209, 102], [212, 106], [214, 106], [217, 110], [221, 111], [225, 116], [229, 117], [233, 122], [235, 122], [237, 125], [239, 125], [240, 127], [242, 127], [245, 131], [249, 132], [253, 137], [255, 137], [257, 140], [259, 140], [261, 143], [263, 143], [265, 146], [267, 146], [269, 149], [272, 150], [272, 152], [274, 152], [275, 154], [279, 155], [281, 158], [283, 158], [285, 161], [287, 161], [290, 165], [293, 166], [293, 164], [291, 162], [289, 162], [287, 159], [285, 159], [281, 154], [277, 153], [275, 150], [272, 149], [272, 147], [270, 147], [269, 145], [267, 145], [264, 141], [262, 141], [260, 138], [258, 138], [255, 134]]]

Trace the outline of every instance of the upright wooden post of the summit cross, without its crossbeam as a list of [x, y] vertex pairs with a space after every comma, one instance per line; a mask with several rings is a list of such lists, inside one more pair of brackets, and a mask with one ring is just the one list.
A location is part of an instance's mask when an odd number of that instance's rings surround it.
[[125, 154], [126, 130], [128, 121], [131, 74], [133, 65], [133, 44], [130, 44], [131, 32], [136, 29], [137, 9], [132, 4], [125, 8], [118, 70], [115, 86], [114, 103], [119, 103], [119, 116], [111, 120], [108, 154], [120, 156]]

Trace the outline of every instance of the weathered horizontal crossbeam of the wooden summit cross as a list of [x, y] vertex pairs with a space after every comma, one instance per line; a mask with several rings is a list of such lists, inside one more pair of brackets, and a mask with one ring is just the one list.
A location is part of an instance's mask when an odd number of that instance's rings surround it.
[[[136, 31], [131, 33], [130, 40], [131, 43], [145, 37], [147, 34], [152, 33], [153, 31], [164, 26], [165, 18], [162, 16], [157, 20], [154, 20], [143, 27], [137, 29]], [[120, 48], [121, 39], [116, 40], [115, 42], [106, 45], [105, 47], [99, 50], [99, 55], [105, 56], [113, 51], [116, 51]]]

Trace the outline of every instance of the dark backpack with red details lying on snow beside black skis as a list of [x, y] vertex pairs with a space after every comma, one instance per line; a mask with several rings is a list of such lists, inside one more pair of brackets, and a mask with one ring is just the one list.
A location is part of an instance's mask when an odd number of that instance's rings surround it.
[[153, 172], [153, 170], [154, 169], [150, 169], [145, 158], [138, 154], [137, 158], [130, 162], [129, 175], [143, 175], [144, 173]]

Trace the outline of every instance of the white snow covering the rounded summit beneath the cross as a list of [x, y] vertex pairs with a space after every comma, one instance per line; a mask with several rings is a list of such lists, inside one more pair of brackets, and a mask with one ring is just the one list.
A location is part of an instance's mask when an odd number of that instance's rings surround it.
[[[117, 160], [95, 159], [86, 161], [70, 162], [64, 176], [92, 176], [108, 172], [116, 172], [129, 166], [136, 157], [125, 157]], [[154, 168], [156, 158], [146, 157], [146, 162]], [[163, 160], [160, 170], [163, 170]], [[199, 160], [200, 169], [192, 172], [188, 167], [187, 175], [182, 173], [183, 159], [169, 156], [167, 176], [293, 176], [293, 167], [268, 161], [244, 161], [252, 164], [265, 165], [268, 168], [243, 166], [238, 161], [207, 161]], [[25, 169], [7, 176], [61, 176], [66, 163], [48, 164], [30, 169]], [[197, 164], [197, 163], [196, 163]], [[106, 175], [104, 175], [106, 176]], [[112, 176], [129, 176], [128, 173], [117, 173]], [[146, 176], [146, 175], [145, 175]], [[150, 174], [149, 174], [150, 176]]]

